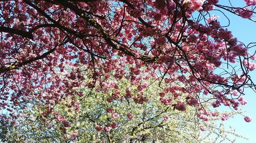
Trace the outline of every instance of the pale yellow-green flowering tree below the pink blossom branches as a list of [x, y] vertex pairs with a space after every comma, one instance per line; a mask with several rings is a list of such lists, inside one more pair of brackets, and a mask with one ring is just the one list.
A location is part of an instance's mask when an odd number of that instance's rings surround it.
[[[122, 78], [113, 81], [113, 84], [118, 85], [120, 95], [125, 96], [112, 102], [105, 100], [112, 97], [112, 90], [100, 92], [99, 89], [91, 91], [87, 87], [80, 88], [77, 90], [83, 90], [90, 95], [73, 95], [67, 100], [59, 101], [47, 118], [44, 118], [42, 113], [49, 105], [40, 101], [35, 102], [32, 107], [20, 113], [17, 123], [10, 124], [6, 128], [8, 130], [0, 132], [4, 135], [0, 137], [0, 141], [232, 142], [236, 140], [234, 137], [241, 137], [233, 130], [226, 130], [223, 124], [218, 122], [225, 113], [207, 111], [204, 116], [212, 118], [200, 120], [195, 115], [198, 103], [186, 107], [183, 112], [178, 109], [184, 106], [176, 107], [177, 110], [173, 110], [172, 106], [166, 106], [172, 101], [165, 102], [161, 96], [156, 98], [155, 91], [160, 90], [157, 82], [143, 90], [148, 101], [142, 104], [135, 103], [129, 98], [130, 94], [137, 93], [136, 85], [131, 85], [129, 80]], [[185, 95], [181, 97], [186, 98]], [[177, 101], [179, 100], [173, 102]], [[72, 102], [77, 103], [76, 107], [70, 108]], [[77, 110], [78, 106], [80, 110]], [[205, 103], [203, 107], [208, 110], [210, 104]]]

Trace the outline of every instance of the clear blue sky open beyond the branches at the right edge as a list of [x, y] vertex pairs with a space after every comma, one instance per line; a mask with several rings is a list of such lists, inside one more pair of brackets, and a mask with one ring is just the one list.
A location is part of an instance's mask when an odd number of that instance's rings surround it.
[[[244, 1], [234, 1], [230, 0], [234, 7], [244, 7]], [[228, 1], [220, 0], [219, 4], [229, 5]], [[214, 14], [214, 13], [212, 13]], [[232, 31], [233, 37], [237, 37], [239, 41], [245, 43], [246, 45], [250, 42], [256, 42], [256, 23], [252, 22], [248, 19], [243, 19], [237, 15], [231, 14], [229, 12], [225, 12], [230, 20], [230, 26], [228, 30]], [[218, 15], [218, 14], [216, 14]], [[219, 15], [218, 19], [222, 25], [227, 24], [227, 20], [223, 15]], [[252, 19], [256, 19], [256, 15]], [[251, 48], [249, 51], [251, 53], [255, 52], [256, 47]], [[252, 71], [250, 73], [252, 81], [256, 82], [256, 71]], [[248, 142], [255, 143], [256, 142], [256, 93], [254, 93], [251, 89], [245, 90], [245, 100], [248, 104], [243, 106], [243, 110], [246, 110], [243, 115], [250, 116], [252, 118], [252, 122], [247, 123], [244, 121], [244, 117], [242, 115], [236, 115], [234, 118], [225, 121], [225, 126], [228, 128], [229, 125], [232, 128], [236, 129], [236, 132], [240, 135], [243, 135], [248, 140], [243, 138], [238, 138], [236, 142]], [[226, 141], [224, 141], [226, 142]]]

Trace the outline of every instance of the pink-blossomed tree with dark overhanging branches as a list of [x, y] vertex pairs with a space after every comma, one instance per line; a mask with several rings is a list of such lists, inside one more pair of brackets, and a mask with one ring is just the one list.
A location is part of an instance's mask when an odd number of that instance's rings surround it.
[[202, 120], [208, 119], [204, 103], [238, 110], [246, 104], [244, 88], [255, 89], [249, 76], [255, 55], [247, 51], [255, 43], [239, 42], [212, 14], [253, 21], [255, 1], [245, 2], [239, 8], [218, 0], [0, 1], [0, 123], [15, 124], [37, 101], [49, 105], [41, 113], [48, 118], [58, 102], [88, 96], [76, 90], [83, 86], [111, 90], [105, 100], [120, 100], [110, 73], [137, 87], [126, 98], [138, 104], [148, 102], [144, 89], [152, 83], [143, 81], [153, 79], [166, 107], [196, 105]]

